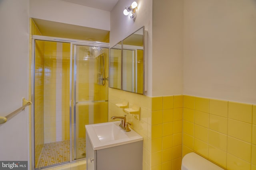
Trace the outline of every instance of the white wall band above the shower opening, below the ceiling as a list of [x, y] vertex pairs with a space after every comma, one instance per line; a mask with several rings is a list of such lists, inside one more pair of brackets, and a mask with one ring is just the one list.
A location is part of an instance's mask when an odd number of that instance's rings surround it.
[[110, 12], [62, 0], [30, 0], [30, 17], [110, 30]]

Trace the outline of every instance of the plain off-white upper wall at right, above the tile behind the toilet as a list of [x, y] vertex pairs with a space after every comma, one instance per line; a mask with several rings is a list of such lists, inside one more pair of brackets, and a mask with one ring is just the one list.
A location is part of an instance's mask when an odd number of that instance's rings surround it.
[[256, 104], [256, 1], [184, 1], [184, 94]]

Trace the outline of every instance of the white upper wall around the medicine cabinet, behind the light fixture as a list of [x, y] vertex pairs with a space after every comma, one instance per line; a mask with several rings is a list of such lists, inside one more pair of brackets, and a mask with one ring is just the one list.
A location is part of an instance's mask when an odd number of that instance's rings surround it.
[[123, 11], [126, 6], [130, 6], [134, 0], [119, 0], [110, 14], [110, 47], [122, 39], [128, 37], [142, 26], [147, 30], [147, 50], [145, 53], [148, 74], [147, 96], [152, 96], [152, 0], [138, 0], [138, 15], [136, 20], [124, 16]]

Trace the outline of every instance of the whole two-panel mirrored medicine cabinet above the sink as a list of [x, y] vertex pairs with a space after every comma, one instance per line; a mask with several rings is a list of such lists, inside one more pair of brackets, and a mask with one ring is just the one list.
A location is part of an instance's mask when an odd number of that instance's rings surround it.
[[109, 87], [144, 94], [144, 27], [110, 48]]

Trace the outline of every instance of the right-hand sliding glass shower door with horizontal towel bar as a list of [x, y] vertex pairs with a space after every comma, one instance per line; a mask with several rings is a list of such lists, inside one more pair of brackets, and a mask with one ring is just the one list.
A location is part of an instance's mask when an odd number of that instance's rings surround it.
[[108, 48], [74, 45], [73, 160], [86, 157], [85, 125], [108, 121]]

